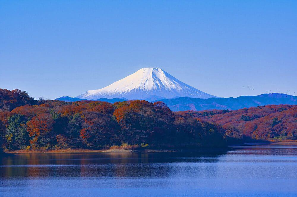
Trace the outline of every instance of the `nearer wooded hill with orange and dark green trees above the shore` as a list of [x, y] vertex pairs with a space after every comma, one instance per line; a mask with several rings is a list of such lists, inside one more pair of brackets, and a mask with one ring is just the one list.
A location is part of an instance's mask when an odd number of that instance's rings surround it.
[[13, 102], [5, 100], [6, 107], [0, 112], [2, 147], [49, 150], [101, 149], [121, 144], [143, 148], [226, 145], [221, 127], [173, 113], [162, 102], [36, 102], [14, 108], [15, 103], [10, 105]]

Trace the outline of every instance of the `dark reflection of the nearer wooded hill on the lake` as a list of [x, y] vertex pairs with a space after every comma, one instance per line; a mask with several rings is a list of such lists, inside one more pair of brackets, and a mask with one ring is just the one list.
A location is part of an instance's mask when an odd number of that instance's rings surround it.
[[[166, 164], [216, 163], [218, 157], [224, 154], [226, 153], [214, 151], [192, 153], [24, 153], [2, 158], [0, 177], [164, 177], [171, 173], [170, 165]], [[183, 165], [181, 166], [184, 168]]]

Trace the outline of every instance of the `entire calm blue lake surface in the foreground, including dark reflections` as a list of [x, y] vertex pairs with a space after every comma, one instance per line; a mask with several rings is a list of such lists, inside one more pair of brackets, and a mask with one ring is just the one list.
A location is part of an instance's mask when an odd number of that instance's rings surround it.
[[297, 196], [297, 146], [1, 158], [0, 196]]

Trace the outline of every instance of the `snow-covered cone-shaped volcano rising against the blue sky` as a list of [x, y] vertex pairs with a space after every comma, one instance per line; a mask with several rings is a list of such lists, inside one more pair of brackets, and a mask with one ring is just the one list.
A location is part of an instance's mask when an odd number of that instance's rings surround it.
[[135, 73], [101, 89], [89, 90], [77, 96], [80, 99], [125, 98], [128, 100], [157, 100], [162, 98], [216, 97], [179, 81], [161, 68], [141, 68]]

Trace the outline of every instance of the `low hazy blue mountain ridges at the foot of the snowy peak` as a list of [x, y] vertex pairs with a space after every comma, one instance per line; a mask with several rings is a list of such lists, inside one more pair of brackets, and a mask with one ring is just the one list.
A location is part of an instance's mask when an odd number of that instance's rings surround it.
[[[73, 97], [60, 97], [55, 100], [75, 102], [78, 100], [86, 100], [86, 99], [73, 98]], [[124, 101], [125, 99], [101, 98], [97, 100], [114, 103], [118, 101]], [[279, 104], [297, 105], [297, 96], [271, 93], [271, 94], [263, 94], [258, 96], [240, 96], [236, 98], [230, 97], [230, 98], [200, 99], [200, 98], [190, 98], [190, 97], [179, 97], [179, 98], [172, 98], [172, 99], [157, 99], [152, 102], [156, 102], [156, 101], [162, 101], [166, 103], [166, 105], [172, 111], [185, 111], [185, 110], [200, 111], [200, 110], [211, 110], [211, 109], [237, 110], [241, 108], [256, 107], [258, 105], [279, 105]]]

